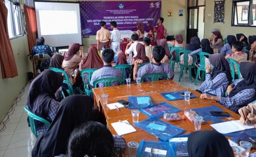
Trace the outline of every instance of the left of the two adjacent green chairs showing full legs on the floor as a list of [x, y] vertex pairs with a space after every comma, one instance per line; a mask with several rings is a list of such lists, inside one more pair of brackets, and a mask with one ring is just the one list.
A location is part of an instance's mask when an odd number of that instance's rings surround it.
[[[191, 72], [191, 70], [192, 70], [192, 68], [194, 68], [194, 70], [195, 70], [195, 64], [193, 62], [192, 65], [189, 65], [189, 53], [190, 52], [191, 51], [189, 51], [189, 50], [182, 50], [182, 51], [179, 52], [179, 56], [181, 55], [180, 53], [184, 54], [184, 64], [180, 64], [179, 82], [180, 82], [180, 78], [183, 75], [183, 70], [184, 69], [186, 70], [187, 68], [189, 69], [189, 81], [190, 81], [190, 83], [192, 82], [192, 72]], [[195, 73], [196, 73], [196, 70], [195, 70]]]

